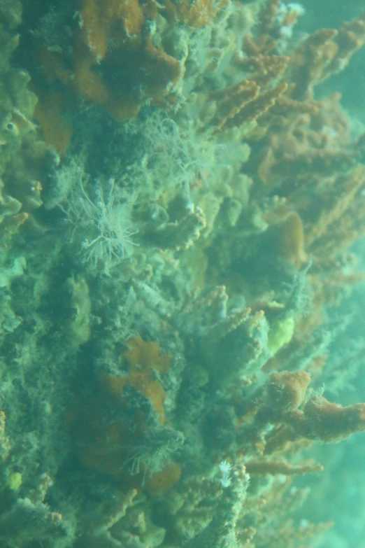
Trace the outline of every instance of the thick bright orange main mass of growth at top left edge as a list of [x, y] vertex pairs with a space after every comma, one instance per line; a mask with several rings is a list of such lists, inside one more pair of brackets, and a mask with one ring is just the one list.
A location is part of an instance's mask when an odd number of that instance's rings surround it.
[[81, 2], [73, 81], [83, 99], [116, 120], [136, 116], [147, 97], [161, 100], [183, 75], [180, 63], [152, 44], [145, 17], [157, 17], [153, 0]]

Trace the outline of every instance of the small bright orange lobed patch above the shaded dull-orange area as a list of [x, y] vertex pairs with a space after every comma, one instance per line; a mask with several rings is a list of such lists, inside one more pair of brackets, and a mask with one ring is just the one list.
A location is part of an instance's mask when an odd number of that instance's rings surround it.
[[122, 398], [124, 386], [132, 386], [150, 400], [159, 416], [159, 422], [165, 421], [164, 401], [166, 393], [162, 388], [156, 374], [164, 374], [171, 367], [172, 356], [162, 354], [159, 344], [145, 342], [142, 337], [134, 337], [127, 342], [129, 349], [123, 353], [123, 357], [129, 365], [129, 373], [123, 377], [112, 374], [103, 374], [101, 382], [103, 387], [117, 398]]

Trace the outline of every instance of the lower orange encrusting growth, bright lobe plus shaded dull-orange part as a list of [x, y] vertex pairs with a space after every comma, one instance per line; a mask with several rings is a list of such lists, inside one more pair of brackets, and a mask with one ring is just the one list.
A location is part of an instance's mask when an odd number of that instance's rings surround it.
[[[83, 464], [118, 476], [134, 465], [134, 444], [136, 440], [141, 440], [150, 426], [148, 412], [139, 405], [131, 404], [124, 390], [129, 386], [143, 395], [157, 412], [159, 423], [164, 423], [166, 395], [157, 377], [169, 371], [172, 360], [172, 356], [162, 353], [156, 342], [145, 342], [141, 337], [134, 337], [127, 344], [129, 349], [124, 351], [123, 358], [129, 365], [129, 372], [121, 377], [101, 374], [94, 397], [90, 399], [88, 394], [69, 412], [76, 450]], [[169, 489], [167, 485], [177, 482], [178, 477], [178, 465], [170, 464], [165, 476], [155, 477], [151, 490]], [[131, 486], [140, 483], [141, 477], [136, 475]]]

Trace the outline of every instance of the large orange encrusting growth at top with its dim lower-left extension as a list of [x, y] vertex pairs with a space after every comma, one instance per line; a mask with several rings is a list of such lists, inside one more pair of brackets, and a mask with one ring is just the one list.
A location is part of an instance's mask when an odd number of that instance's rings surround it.
[[[133, 118], [146, 101], [166, 106], [183, 66], [152, 43], [148, 28], [157, 13], [154, 0], [82, 0], [72, 52], [38, 52], [47, 83], [62, 86], [49, 98], [39, 94], [37, 117], [45, 139], [59, 153], [71, 137], [60, 98], [68, 97], [69, 108], [76, 108], [80, 98], [103, 106], [116, 120]], [[44, 115], [50, 105], [51, 122]]]

